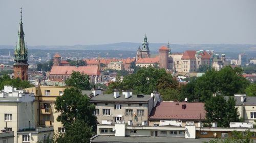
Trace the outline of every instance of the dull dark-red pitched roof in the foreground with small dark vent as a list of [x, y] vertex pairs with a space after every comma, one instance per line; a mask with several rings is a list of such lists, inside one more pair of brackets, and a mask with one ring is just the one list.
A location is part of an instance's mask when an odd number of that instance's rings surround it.
[[[183, 104], [185, 109], [182, 109]], [[205, 113], [204, 103], [158, 102], [151, 111], [150, 120], [204, 120]]]

